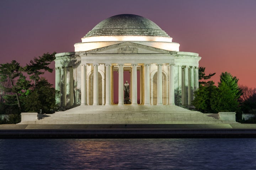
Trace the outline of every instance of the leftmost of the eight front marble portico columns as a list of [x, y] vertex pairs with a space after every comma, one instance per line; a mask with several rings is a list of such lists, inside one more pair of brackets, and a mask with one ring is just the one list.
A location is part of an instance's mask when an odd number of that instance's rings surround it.
[[86, 64], [81, 66], [81, 105], [87, 105], [86, 102]]

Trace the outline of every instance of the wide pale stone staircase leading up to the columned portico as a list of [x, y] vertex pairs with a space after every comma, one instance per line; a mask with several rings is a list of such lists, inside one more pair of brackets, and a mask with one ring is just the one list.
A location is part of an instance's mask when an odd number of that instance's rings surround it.
[[78, 106], [21, 124], [230, 124], [218, 114], [203, 114], [175, 105]]

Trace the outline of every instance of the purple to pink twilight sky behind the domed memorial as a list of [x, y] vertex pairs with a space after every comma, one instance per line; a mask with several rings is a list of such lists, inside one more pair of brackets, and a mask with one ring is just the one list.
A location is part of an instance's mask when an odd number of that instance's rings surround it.
[[[255, 8], [256, 0], [1, 0], [0, 64], [74, 51], [96, 24], [130, 13], [155, 22], [180, 51], [198, 53], [199, 66], [216, 72], [215, 85], [230, 72], [255, 88]], [[45, 77], [55, 84], [54, 72]]]

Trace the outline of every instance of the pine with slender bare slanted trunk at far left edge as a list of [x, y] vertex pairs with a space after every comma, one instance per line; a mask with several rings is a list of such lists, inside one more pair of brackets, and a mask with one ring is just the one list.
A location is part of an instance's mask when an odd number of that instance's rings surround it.
[[[18, 108], [21, 111], [21, 104], [18, 95], [20, 88], [16, 86], [15, 79], [21, 75], [22, 67], [20, 64], [12, 60], [11, 63], [0, 64], [0, 82], [11, 82], [11, 86], [1, 86], [5, 92], [14, 93], [16, 95]], [[2, 84], [1, 84], [2, 85]]]

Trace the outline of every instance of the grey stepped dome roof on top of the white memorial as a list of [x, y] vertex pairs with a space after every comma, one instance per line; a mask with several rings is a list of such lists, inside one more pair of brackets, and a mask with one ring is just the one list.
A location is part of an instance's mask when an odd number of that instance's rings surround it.
[[149, 19], [133, 14], [121, 14], [98, 23], [84, 37], [111, 35], [144, 35], [170, 37], [158, 25]]

